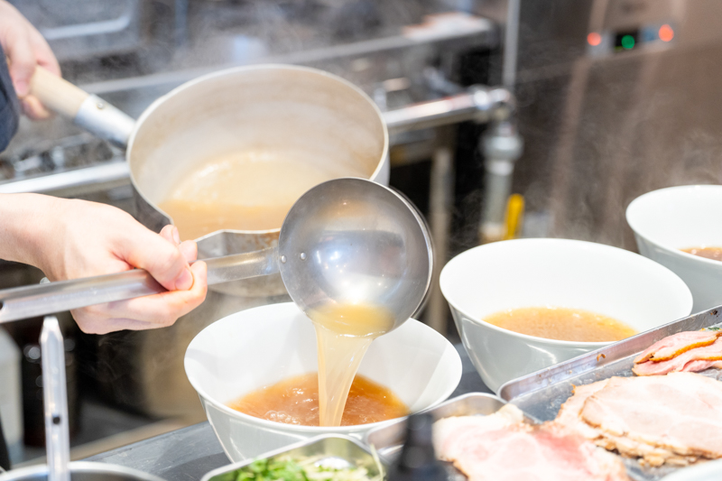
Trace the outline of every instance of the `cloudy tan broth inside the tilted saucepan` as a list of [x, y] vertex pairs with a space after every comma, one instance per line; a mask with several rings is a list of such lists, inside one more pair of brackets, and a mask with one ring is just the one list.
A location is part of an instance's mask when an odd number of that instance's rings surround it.
[[218, 229], [280, 228], [293, 203], [311, 187], [338, 177], [367, 177], [349, 165], [319, 164], [301, 153], [250, 151], [199, 163], [158, 207], [182, 240]]

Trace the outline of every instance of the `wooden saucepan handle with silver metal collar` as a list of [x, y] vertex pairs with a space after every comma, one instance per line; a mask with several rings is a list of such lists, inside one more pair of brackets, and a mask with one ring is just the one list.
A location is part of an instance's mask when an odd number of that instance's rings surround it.
[[30, 93], [53, 112], [120, 147], [127, 145], [133, 133], [133, 117], [42, 67], [35, 68]]

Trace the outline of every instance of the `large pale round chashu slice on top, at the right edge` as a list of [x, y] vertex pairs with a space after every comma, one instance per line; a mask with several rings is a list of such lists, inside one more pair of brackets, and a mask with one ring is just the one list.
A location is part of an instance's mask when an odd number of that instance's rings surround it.
[[[662, 462], [722, 458], [722, 383], [694, 373], [613, 377], [588, 397], [581, 419], [631, 455], [639, 445], [669, 451]], [[632, 449], [630, 449], [630, 446]], [[661, 459], [643, 455], [656, 466]]]

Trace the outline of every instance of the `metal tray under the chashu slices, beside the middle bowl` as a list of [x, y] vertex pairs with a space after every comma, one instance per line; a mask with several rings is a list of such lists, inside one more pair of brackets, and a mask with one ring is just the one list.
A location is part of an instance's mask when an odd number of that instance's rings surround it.
[[[532, 419], [551, 421], [569, 399], [575, 385], [590, 384], [612, 376], [632, 376], [634, 356], [662, 338], [681, 331], [711, 328], [722, 322], [722, 307], [675, 320], [633, 338], [602, 347], [586, 355], [552, 365], [504, 384], [499, 395], [515, 404]], [[722, 371], [709, 369], [708, 375], [722, 381]], [[657, 481], [680, 468], [642, 467], [635, 459], [622, 458], [627, 472], [637, 480]]]

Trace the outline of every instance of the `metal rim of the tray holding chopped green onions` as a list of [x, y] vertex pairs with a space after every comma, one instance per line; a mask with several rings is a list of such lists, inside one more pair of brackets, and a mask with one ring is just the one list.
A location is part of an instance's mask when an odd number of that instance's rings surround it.
[[[322, 456], [319, 463], [333, 467], [356, 466], [366, 467], [370, 476], [379, 474], [378, 467], [372, 452], [361, 442], [347, 436], [322, 435], [302, 441], [282, 449], [275, 449], [257, 458], [246, 459], [239, 463], [218, 467], [203, 476], [201, 481], [233, 481], [235, 476], [231, 475], [241, 467], [245, 467], [256, 459], [273, 459], [280, 457], [308, 458], [311, 456]], [[384, 461], [382, 460], [382, 464]], [[386, 466], [384, 466], [385, 469]]]

